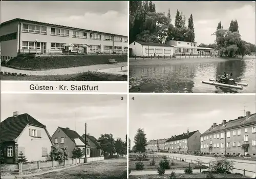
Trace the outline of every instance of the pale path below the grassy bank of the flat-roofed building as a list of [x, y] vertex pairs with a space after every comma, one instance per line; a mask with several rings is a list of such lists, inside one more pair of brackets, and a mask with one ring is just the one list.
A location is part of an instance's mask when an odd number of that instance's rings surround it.
[[52, 70], [42, 70], [42, 71], [30, 71], [30, 70], [17, 70], [8, 68], [6, 66], [1, 66], [1, 72], [10, 72], [10, 73], [22, 73], [29, 76], [45, 76], [45, 75], [71, 75], [78, 74], [88, 71], [100, 71], [106, 69], [120, 68], [121, 66], [127, 66], [127, 62], [120, 62], [117, 64], [96, 64], [96, 65], [87, 65], [87, 66], [77, 66], [71, 68], [63, 69], [52, 69]]

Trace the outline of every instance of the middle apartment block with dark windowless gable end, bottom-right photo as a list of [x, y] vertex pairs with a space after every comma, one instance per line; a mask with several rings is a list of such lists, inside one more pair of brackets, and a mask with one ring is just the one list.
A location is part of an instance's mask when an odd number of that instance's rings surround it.
[[165, 142], [168, 152], [190, 153], [200, 151], [200, 136], [198, 130], [183, 132], [181, 135], [172, 136]]

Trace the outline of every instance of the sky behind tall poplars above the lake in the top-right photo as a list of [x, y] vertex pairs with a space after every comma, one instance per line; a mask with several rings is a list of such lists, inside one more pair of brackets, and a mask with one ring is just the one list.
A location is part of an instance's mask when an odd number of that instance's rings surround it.
[[224, 29], [228, 29], [231, 20], [238, 21], [239, 33], [243, 40], [255, 44], [255, 2], [153, 2], [156, 12], [170, 9], [172, 23], [175, 22], [177, 9], [186, 16], [186, 26], [190, 14], [193, 14], [195, 27], [195, 41], [200, 43], [214, 43], [219, 21]]

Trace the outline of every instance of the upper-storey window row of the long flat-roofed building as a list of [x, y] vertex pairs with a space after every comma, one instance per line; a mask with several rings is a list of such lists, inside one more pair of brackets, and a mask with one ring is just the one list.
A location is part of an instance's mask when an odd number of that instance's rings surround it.
[[[47, 27], [45, 26], [38, 26], [38, 25], [31, 25], [31, 24], [23, 24], [22, 28], [23, 32], [31, 32], [37, 34], [47, 34]], [[69, 30], [61, 29], [61, 28], [51, 28], [51, 35], [69, 37]], [[72, 37], [76, 38], [87, 38], [87, 32], [79, 32], [73, 31]], [[90, 39], [101, 40], [100, 34], [90, 33]], [[104, 35], [104, 40], [113, 41], [113, 36]], [[122, 37], [115, 37], [115, 41], [117, 42], [128, 42], [127, 38]]]

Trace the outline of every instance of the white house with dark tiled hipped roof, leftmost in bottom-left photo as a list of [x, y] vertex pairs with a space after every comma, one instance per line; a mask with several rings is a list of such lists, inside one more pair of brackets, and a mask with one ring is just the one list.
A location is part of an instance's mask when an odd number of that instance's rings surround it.
[[13, 116], [1, 122], [1, 151], [5, 163], [17, 163], [22, 152], [27, 162], [49, 160], [53, 141], [44, 124], [29, 114]]

